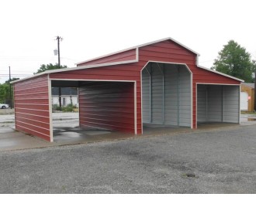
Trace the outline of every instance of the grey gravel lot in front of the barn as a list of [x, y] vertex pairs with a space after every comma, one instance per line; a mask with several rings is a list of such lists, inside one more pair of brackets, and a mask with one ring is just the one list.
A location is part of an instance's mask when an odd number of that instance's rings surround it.
[[0, 193], [255, 193], [255, 125], [0, 152]]

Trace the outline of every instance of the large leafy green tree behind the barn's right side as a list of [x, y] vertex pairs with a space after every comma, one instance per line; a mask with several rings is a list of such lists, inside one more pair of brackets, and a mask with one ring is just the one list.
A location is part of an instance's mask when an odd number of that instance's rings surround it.
[[224, 45], [219, 52], [218, 59], [214, 59], [213, 65], [212, 70], [237, 77], [247, 83], [254, 81], [253, 73], [256, 63], [251, 60], [251, 54], [247, 53], [246, 49], [234, 40], [230, 40], [227, 45]]

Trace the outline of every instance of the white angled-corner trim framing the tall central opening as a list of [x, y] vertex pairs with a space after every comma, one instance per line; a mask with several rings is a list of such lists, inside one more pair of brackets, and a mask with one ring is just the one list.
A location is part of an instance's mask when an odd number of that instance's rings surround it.
[[[144, 68], [147, 66], [148, 63], [166, 63], [166, 64], [175, 64], [175, 65], [181, 65], [181, 66], [185, 66], [187, 68], [187, 70], [190, 73], [190, 91], [191, 91], [191, 123], [190, 123], [190, 127], [193, 128], [193, 73], [192, 71], [189, 69], [189, 66], [185, 63], [171, 63], [171, 62], [161, 62], [161, 61], [154, 61], [154, 60], [148, 60], [147, 63], [143, 66], [143, 68], [140, 70], [140, 93], [141, 93], [141, 124], [143, 127], [143, 105], [142, 105], [142, 70], [144, 70]], [[196, 124], [197, 127], [197, 124]]]

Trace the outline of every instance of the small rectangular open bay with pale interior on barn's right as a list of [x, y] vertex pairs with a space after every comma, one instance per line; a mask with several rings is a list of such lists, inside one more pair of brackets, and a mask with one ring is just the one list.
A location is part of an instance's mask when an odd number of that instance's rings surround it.
[[240, 123], [240, 86], [197, 84], [197, 124]]

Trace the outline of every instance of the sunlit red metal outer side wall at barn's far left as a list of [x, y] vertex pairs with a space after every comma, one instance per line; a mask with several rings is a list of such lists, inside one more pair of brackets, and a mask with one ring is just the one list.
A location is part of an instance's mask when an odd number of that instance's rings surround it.
[[50, 141], [47, 75], [14, 84], [16, 130]]

